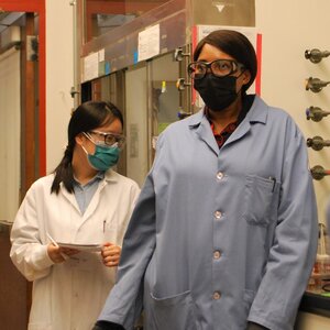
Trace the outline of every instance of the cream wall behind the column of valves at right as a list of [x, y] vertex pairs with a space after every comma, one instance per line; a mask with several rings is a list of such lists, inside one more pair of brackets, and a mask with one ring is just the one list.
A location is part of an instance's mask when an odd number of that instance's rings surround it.
[[[305, 90], [305, 79], [312, 76], [330, 80], [330, 57], [319, 64], [305, 58], [305, 51], [330, 51], [329, 0], [255, 0], [256, 28], [263, 35], [262, 97], [272, 106], [284, 108], [296, 120], [306, 138], [330, 139], [330, 118], [316, 123], [306, 120], [310, 106], [330, 110], [330, 86], [321, 92]], [[309, 165], [330, 168], [330, 148], [309, 150]], [[330, 177], [315, 182], [319, 220], [324, 221], [324, 206], [330, 198]]]

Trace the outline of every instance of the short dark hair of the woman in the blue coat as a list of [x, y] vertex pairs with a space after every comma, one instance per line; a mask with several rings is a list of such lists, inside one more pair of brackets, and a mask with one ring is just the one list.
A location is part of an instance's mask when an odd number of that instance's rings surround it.
[[249, 38], [244, 34], [233, 30], [213, 31], [198, 43], [194, 52], [194, 61], [198, 59], [205, 44], [217, 47], [244, 65], [251, 74], [249, 84], [242, 87], [242, 90], [245, 92], [253, 84], [257, 70], [255, 51]]

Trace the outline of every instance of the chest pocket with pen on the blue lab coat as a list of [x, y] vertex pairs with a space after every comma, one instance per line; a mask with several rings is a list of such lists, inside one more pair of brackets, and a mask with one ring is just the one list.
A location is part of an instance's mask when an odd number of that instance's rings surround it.
[[271, 207], [276, 180], [256, 175], [246, 176], [243, 218], [250, 224], [267, 226], [271, 221]]

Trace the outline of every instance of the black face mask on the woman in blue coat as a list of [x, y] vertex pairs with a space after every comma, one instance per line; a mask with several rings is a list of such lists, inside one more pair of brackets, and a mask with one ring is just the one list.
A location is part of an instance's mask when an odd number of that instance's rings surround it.
[[238, 98], [237, 79], [234, 76], [216, 77], [207, 74], [202, 79], [194, 80], [194, 88], [208, 108], [222, 111]]

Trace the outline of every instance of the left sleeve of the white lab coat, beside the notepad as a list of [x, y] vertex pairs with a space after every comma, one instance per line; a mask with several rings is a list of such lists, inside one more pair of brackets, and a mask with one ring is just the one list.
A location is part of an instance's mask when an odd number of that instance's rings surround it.
[[28, 280], [46, 276], [54, 262], [47, 253], [47, 244], [42, 244], [36, 212], [35, 186], [28, 191], [15, 217], [11, 230], [10, 257]]

